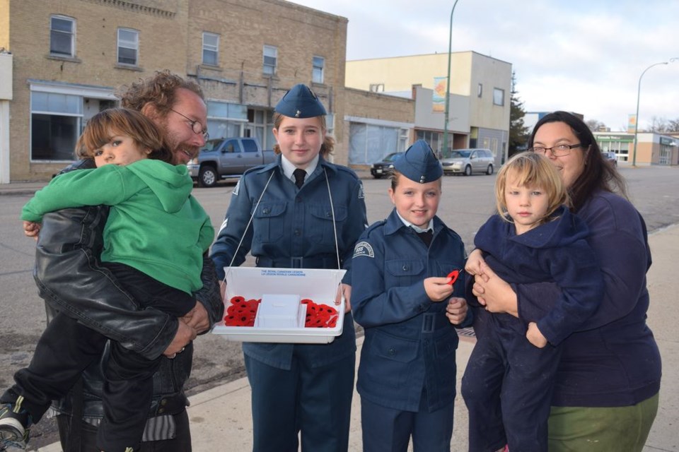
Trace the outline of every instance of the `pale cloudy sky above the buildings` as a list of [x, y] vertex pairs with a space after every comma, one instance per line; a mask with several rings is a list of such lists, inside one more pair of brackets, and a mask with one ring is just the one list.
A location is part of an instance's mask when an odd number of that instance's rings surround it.
[[[448, 52], [454, 0], [292, 0], [349, 19], [347, 59]], [[527, 112], [626, 127], [679, 119], [679, 0], [459, 0], [453, 52], [507, 61]], [[453, 68], [454, 71], [454, 68]], [[445, 76], [446, 74], [441, 74]]]

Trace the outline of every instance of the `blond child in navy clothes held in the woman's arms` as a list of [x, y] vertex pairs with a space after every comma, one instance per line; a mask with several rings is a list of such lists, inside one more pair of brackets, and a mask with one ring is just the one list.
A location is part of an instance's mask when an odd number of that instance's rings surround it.
[[[486, 400], [467, 403], [469, 450], [504, 450], [508, 444], [509, 451], [547, 452], [559, 344], [598, 307], [603, 276], [586, 242], [588, 228], [564, 206], [566, 188], [546, 157], [511, 157], [497, 174], [495, 196], [498, 213], [474, 239], [487, 265], [511, 284], [555, 282], [562, 295], [552, 311], [528, 325], [475, 309], [477, 343], [462, 393], [465, 400]], [[481, 261], [471, 257], [465, 270], [482, 273]], [[475, 393], [468, 392], [472, 387]], [[497, 436], [504, 436], [500, 444], [491, 439]]]

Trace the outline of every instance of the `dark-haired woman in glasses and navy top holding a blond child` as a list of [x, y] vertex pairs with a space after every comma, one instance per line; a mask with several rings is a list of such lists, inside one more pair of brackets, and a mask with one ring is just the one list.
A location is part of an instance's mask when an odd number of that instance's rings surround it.
[[[660, 353], [646, 325], [651, 251], [644, 219], [628, 201], [624, 179], [573, 114], [553, 112], [540, 119], [528, 148], [559, 170], [571, 211], [589, 228], [587, 241], [604, 280], [600, 307], [562, 343], [549, 451], [642, 451], [658, 410], [661, 379]], [[482, 270], [473, 293], [487, 311], [526, 324], [542, 319], [561, 295], [553, 283], [509, 285], [486, 263]], [[467, 381], [463, 395], [468, 404], [486, 401], [481, 381]], [[501, 430], [491, 434], [492, 444], [506, 443]]]

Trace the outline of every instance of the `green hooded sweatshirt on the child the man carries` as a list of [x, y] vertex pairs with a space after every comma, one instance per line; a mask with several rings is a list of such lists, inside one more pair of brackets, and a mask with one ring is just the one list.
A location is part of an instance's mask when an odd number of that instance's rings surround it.
[[111, 206], [104, 262], [124, 263], [185, 292], [202, 287], [203, 253], [214, 239], [210, 218], [190, 193], [185, 165], [139, 160], [80, 169], [52, 179], [23, 206], [21, 219], [81, 206]]

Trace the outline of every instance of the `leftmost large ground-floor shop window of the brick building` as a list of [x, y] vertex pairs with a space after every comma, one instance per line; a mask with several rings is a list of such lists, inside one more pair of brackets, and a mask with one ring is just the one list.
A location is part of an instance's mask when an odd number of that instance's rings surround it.
[[30, 96], [31, 160], [74, 160], [83, 99], [77, 95], [33, 92]]

